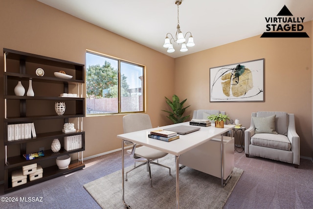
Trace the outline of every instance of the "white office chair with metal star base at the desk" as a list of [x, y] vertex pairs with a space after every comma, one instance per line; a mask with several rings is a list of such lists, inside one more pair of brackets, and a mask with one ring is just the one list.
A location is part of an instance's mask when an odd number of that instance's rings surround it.
[[[126, 115], [123, 117], [123, 128], [124, 128], [124, 133], [130, 133], [130, 132], [134, 132], [134, 131], [141, 131], [141, 130], [145, 130], [145, 129], [150, 129], [150, 128], [152, 128], [152, 124], [151, 124], [150, 117], [146, 114], [131, 114], [131, 115]], [[162, 151], [150, 148], [150, 147], [146, 147], [146, 146], [136, 147], [136, 144], [133, 142], [130, 142], [130, 141], [128, 141], [126, 143], [134, 144], [133, 149], [127, 150], [127, 152], [130, 153], [134, 159], [144, 158], [146, 160], [143, 161], [144, 163], [141, 163], [137, 166], [134, 165], [133, 169], [127, 171], [125, 181], [127, 181], [127, 173], [131, 172], [135, 168], [138, 168], [138, 167], [146, 164], [147, 165], [147, 171], [149, 172], [149, 176], [150, 176], [150, 186], [152, 186], [152, 177], [151, 177], [151, 168], [150, 168], [151, 163], [168, 168], [169, 169], [169, 175], [171, 175], [171, 168], [170, 167], [156, 163], [153, 161], [153, 160], [157, 160], [159, 158], [163, 158], [168, 153], [162, 152]]]

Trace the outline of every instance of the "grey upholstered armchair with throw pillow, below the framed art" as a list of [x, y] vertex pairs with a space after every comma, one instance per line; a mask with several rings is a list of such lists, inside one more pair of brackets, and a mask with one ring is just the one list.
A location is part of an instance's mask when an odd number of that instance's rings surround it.
[[245, 153], [276, 161], [300, 164], [300, 138], [295, 130], [294, 114], [257, 112], [251, 115], [245, 131]]

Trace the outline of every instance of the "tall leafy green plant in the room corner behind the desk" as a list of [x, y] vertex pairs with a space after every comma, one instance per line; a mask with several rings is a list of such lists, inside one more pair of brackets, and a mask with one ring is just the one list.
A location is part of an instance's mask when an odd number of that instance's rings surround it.
[[173, 121], [173, 123], [181, 123], [184, 122], [189, 116], [182, 116], [185, 112], [185, 110], [190, 106], [187, 107], [183, 107], [183, 104], [185, 103], [185, 100], [183, 100], [182, 102], [179, 101], [179, 97], [177, 95], [173, 95], [172, 99], [173, 101], [171, 101], [170, 99], [168, 99], [165, 96], [166, 99], [166, 103], [171, 107], [172, 112], [167, 111], [167, 110], [162, 110], [166, 113], [169, 113], [169, 116], [166, 116], [167, 118], [169, 118], [170, 120]]

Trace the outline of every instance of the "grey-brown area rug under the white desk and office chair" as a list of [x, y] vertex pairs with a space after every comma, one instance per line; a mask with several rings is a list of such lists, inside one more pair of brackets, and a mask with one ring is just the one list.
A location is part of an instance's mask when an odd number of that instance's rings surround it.
[[[176, 208], [176, 169], [175, 157], [167, 155], [159, 163], [168, 169], [152, 164], [152, 184], [146, 167], [128, 173], [125, 181], [125, 202], [132, 209], [175, 209]], [[133, 166], [125, 168], [128, 171]], [[100, 168], [99, 168], [100, 169]], [[179, 207], [181, 209], [222, 209], [236, 186], [244, 170], [234, 168], [232, 177], [221, 186], [221, 179], [184, 167], [179, 170]], [[84, 185], [92, 198], [102, 209], [124, 209], [122, 203], [122, 172], [112, 174]]]

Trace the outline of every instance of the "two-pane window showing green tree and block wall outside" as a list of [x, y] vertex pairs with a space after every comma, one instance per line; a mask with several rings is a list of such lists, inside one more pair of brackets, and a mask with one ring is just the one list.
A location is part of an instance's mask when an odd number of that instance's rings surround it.
[[87, 115], [143, 112], [144, 66], [87, 51], [86, 68]]

